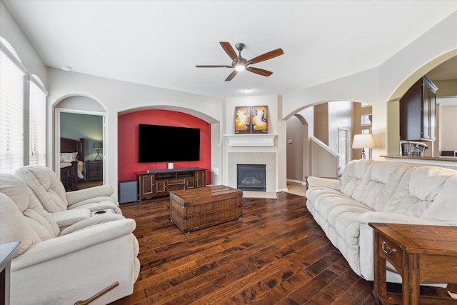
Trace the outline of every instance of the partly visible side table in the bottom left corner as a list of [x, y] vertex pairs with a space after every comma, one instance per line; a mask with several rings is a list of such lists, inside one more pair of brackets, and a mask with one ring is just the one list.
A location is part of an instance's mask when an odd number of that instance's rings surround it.
[[0, 286], [3, 296], [0, 298], [0, 304], [9, 305], [9, 272], [11, 261], [21, 249], [21, 241], [14, 241], [9, 244], [0, 244]]

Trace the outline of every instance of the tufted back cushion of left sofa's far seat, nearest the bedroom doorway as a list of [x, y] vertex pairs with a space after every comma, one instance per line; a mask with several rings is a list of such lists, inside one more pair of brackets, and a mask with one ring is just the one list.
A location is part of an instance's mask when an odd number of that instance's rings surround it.
[[24, 166], [16, 175], [26, 182], [46, 211], [54, 213], [67, 209], [64, 185], [54, 171], [45, 166]]

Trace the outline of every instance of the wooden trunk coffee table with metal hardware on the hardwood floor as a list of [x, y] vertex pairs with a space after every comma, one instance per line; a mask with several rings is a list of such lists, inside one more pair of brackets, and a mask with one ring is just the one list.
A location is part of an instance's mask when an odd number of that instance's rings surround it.
[[185, 234], [243, 218], [243, 191], [204, 186], [170, 192], [170, 221]]

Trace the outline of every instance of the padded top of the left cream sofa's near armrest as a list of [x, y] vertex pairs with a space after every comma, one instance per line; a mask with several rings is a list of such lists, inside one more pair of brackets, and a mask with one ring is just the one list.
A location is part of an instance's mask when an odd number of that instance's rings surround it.
[[104, 242], [131, 234], [135, 228], [136, 222], [133, 219], [119, 219], [41, 241], [31, 245], [27, 251], [17, 256], [14, 259], [14, 264], [11, 265], [11, 271], [25, 269], [45, 261], [74, 254], [77, 251], [84, 251], [91, 246], [98, 246]]

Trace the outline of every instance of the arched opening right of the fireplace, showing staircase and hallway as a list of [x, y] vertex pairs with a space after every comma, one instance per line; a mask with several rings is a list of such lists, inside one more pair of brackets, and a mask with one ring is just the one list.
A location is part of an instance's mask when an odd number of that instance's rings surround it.
[[325, 101], [293, 114], [286, 121], [288, 184], [306, 184], [308, 176], [340, 176], [349, 161], [361, 156], [360, 149], [351, 149], [352, 138], [371, 133], [371, 121], [361, 119], [371, 117], [371, 111], [371, 105], [356, 101]]

